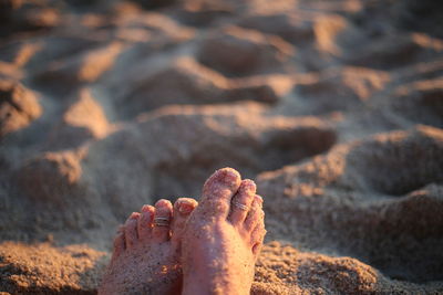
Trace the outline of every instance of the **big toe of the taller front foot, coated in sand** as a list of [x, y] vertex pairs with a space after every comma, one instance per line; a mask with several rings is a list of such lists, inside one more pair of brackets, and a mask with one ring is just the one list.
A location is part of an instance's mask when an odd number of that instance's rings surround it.
[[241, 182], [240, 175], [233, 168], [223, 168], [215, 171], [203, 187], [202, 201], [198, 210], [205, 211], [204, 217], [227, 218], [230, 200]]

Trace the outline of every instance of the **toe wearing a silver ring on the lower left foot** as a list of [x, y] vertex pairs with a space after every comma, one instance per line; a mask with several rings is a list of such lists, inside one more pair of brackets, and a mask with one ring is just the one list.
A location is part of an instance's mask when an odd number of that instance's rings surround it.
[[173, 204], [168, 200], [158, 200], [155, 203], [153, 239], [156, 242], [165, 242], [169, 239]]

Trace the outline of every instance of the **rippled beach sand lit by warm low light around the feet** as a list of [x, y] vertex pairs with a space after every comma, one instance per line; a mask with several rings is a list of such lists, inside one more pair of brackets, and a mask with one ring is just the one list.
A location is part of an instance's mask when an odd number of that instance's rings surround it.
[[94, 294], [119, 223], [233, 167], [253, 294], [443, 294], [439, 1], [0, 3], [0, 294]]

